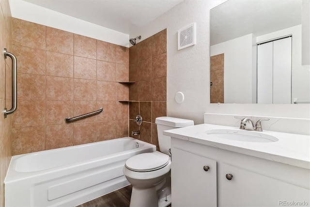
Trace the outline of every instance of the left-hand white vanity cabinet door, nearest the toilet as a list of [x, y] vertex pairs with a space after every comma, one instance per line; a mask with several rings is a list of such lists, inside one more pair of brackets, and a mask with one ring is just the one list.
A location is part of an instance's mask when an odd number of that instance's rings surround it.
[[216, 207], [217, 162], [172, 148], [171, 203], [174, 207]]

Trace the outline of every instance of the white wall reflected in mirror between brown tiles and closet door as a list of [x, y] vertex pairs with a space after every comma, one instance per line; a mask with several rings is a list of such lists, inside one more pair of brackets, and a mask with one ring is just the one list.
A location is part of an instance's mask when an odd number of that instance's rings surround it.
[[252, 89], [256, 86], [252, 84], [256, 74], [256, 65], [252, 68], [253, 55], [256, 59], [253, 38], [248, 34], [210, 47], [210, 56], [224, 53], [224, 103], [252, 103], [252, 97], [256, 97]]

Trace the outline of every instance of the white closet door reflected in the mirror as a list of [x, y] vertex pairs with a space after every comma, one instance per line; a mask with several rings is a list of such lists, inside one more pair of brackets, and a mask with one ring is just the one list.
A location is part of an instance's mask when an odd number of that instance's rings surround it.
[[257, 47], [257, 103], [291, 103], [292, 37]]

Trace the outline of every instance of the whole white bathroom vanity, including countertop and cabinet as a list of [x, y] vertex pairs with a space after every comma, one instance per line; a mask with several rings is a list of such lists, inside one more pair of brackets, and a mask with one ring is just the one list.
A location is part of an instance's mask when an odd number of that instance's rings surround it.
[[310, 205], [308, 135], [211, 124], [164, 135], [171, 136], [172, 206]]

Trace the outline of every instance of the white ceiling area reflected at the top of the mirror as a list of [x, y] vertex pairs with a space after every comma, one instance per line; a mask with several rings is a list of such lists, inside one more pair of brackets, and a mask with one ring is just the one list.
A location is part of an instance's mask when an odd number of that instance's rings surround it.
[[228, 0], [211, 9], [211, 45], [301, 24], [302, 0]]

